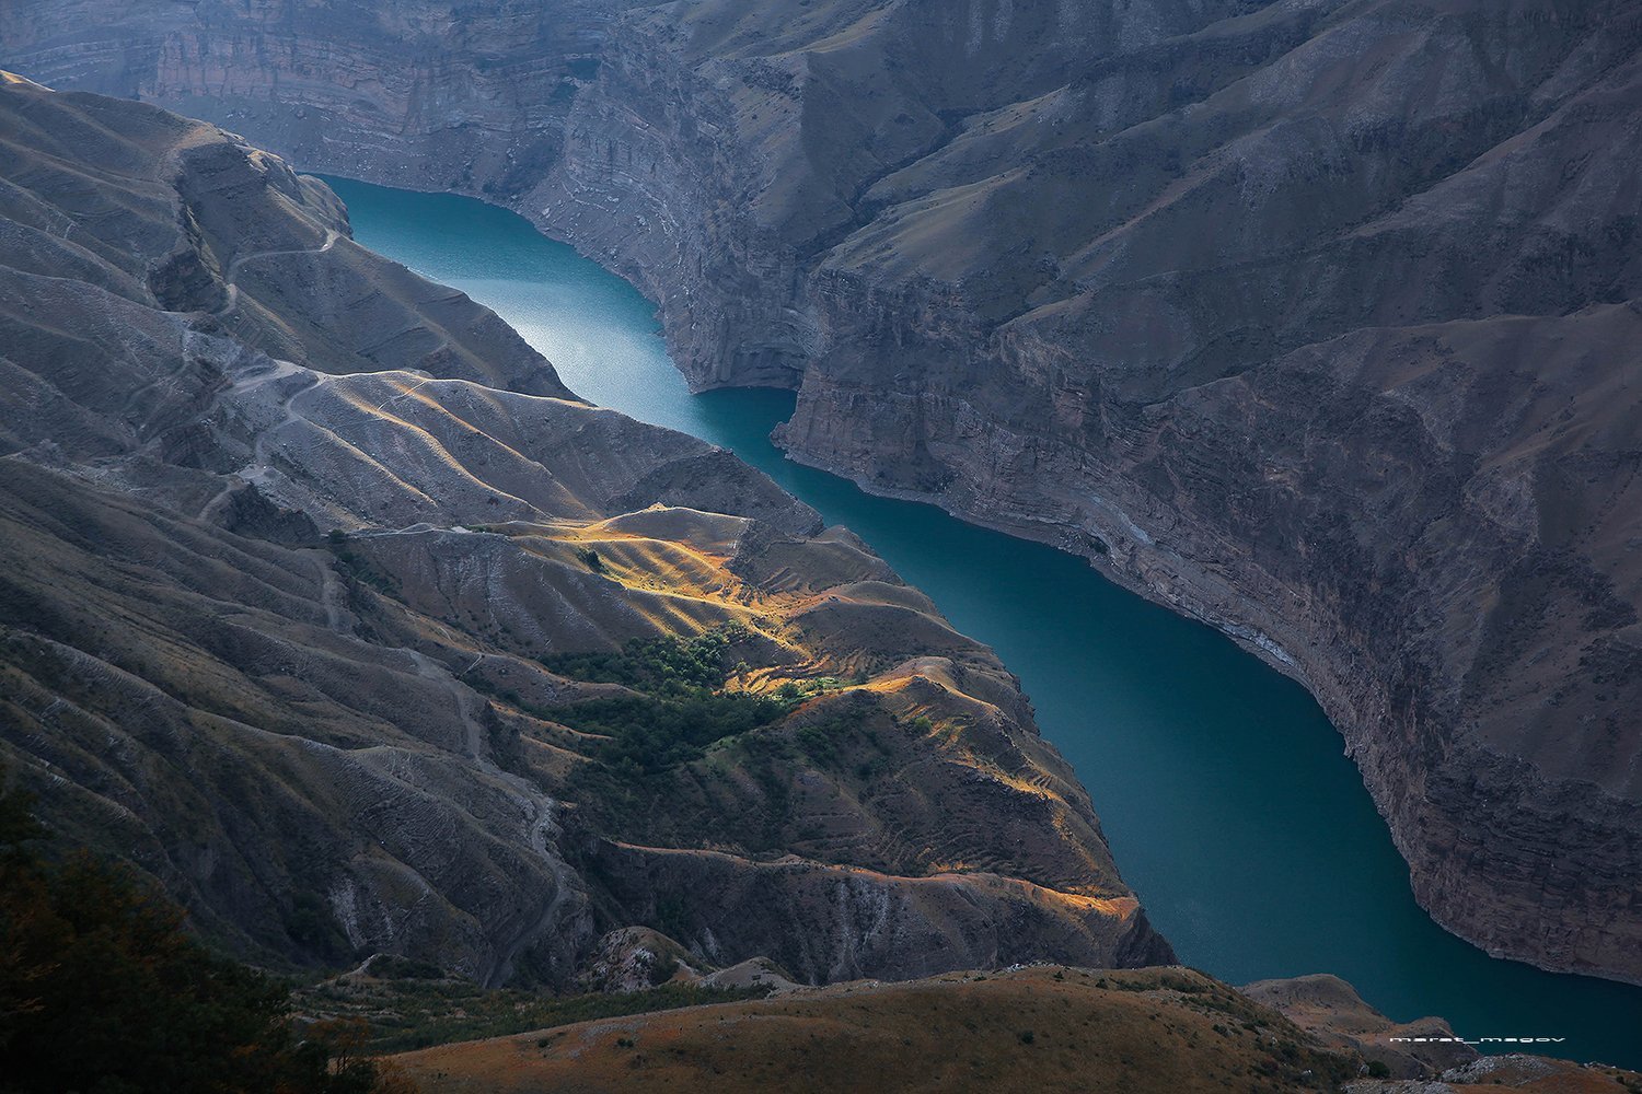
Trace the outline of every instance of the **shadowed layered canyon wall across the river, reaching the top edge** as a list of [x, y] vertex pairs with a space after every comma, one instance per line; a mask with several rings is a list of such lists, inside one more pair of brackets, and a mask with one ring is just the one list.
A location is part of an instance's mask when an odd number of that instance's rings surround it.
[[87, 0], [0, 43], [521, 208], [696, 385], [796, 387], [795, 458], [1305, 682], [1442, 923], [1642, 979], [1634, 3]]

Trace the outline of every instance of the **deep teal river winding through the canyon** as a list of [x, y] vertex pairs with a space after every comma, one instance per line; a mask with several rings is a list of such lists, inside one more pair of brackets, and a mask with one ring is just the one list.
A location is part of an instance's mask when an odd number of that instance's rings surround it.
[[1414, 904], [1407, 868], [1307, 692], [1080, 559], [872, 497], [770, 444], [793, 395], [691, 395], [654, 305], [506, 210], [328, 180], [358, 241], [494, 308], [581, 397], [736, 451], [874, 546], [1020, 674], [1181, 960], [1233, 984], [1335, 973], [1397, 1020], [1565, 1037], [1642, 1068], [1642, 987], [1499, 961]]

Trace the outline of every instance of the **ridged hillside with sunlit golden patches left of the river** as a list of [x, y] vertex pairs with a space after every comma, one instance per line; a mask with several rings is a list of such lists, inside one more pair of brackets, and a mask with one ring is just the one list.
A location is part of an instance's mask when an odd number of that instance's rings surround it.
[[988, 650], [317, 180], [7, 75], [0, 238], [0, 758], [217, 941], [552, 986], [632, 927], [806, 981], [1171, 956]]

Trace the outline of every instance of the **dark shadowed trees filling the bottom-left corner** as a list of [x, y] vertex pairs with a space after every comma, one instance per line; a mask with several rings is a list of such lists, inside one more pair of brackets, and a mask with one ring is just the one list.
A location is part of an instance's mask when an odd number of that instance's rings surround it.
[[0, 769], [0, 1094], [407, 1094], [360, 1022], [210, 953], [131, 871], [44, 853]]

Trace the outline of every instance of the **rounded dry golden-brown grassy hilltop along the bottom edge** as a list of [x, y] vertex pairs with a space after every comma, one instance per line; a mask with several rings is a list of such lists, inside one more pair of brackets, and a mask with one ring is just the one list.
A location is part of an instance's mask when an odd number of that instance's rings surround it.
[[1355, 1056], [1197, 973], [1031, 968], [849, 984], [396, 1058], [427, 1094], [1330, 1089]]

